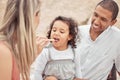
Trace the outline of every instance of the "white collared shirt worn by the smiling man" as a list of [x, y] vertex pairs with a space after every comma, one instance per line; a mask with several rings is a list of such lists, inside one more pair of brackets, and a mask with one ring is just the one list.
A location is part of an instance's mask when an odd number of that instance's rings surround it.
[[[120, 72], [120, 30], [108, 27], [95, 41], [89, 34], [90, 25], [79, 26], [81, 41], [75, 50], [76, 77], [106, 80], [113, 63]], [[80, 71], [80, 73], [79, 73]]]

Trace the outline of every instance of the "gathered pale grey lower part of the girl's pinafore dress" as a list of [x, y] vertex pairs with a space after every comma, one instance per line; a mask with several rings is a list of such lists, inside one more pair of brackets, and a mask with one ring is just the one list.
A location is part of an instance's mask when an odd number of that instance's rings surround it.
[[43, 74], [55, 76], [59, 80], [73, 80], [75, 77], [75, 63], [71, 59], [51, 60], [47, 63]]

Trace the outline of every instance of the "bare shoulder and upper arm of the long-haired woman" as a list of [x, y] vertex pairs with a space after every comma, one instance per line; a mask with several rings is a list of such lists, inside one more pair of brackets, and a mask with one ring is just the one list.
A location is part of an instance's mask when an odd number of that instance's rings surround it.
[[0, 41], [0, 71], [1, 76], [7, 75], [6, 77], [0, 77], [0, 80], [9, 80], [11, 78], [12, 56], [4, 41]]

